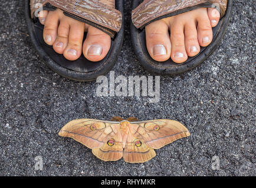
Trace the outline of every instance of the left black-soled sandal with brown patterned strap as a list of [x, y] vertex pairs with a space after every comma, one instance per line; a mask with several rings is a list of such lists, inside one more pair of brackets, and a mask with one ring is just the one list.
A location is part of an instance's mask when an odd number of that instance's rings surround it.
[[[56, 8], [62, 9], [65, 15], [101, 29], [111, 36], [111, 47], [103, 60], [91, 62], [82, 53], [76, 61], [68, 61], [44, 42], [44, 26], [40, 24], [36, 14], [42, 9], [54, 11]], [[28, 32], [41, 58], [58, 74], [79, 81], [90, 81], [105, 75], [116, 63], [124, 38], [122, 15], [123, 0], [116, 0], [116, 9], [101, 4], [98, 0], [25, 0]]]

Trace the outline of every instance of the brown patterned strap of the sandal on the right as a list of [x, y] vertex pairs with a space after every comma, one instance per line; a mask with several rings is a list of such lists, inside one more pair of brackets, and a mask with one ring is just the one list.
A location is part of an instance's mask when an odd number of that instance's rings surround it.
[[136, 28], [157, 19], [166, 18], [191, 11], [199, 7], [213, 7], [225, 15], [228, 0], [144, 0], [132, 11], [132, 21]]

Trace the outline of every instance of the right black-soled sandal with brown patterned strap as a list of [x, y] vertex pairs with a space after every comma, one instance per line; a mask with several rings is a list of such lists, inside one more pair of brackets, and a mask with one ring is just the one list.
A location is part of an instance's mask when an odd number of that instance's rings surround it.
[[[189, 3], [186, 3], [189, 2]], [[198, 55], [188, 57], [183, 63], [175, 63], [172, 59], [165, 62], [153, 60], [146, 46], [145, 26], [153, 21], [182, 14], [196, 8], [211, 7], [221, 12], [221, 19], [215, 28], [213, 41], [201, 47]], [[160, 9], [160, 11], [156, 11]], [[150, 12], [152, 11], [152, 12]], [[153, 12], [155, 11], [155, 12]], [[232, 0], [133, 0], [131, 35], [134, 51], [142, 66], [149, 72], [160, 75], [178, 75], [200, 65], [215, 51], [227, 30], [232, 11]]]

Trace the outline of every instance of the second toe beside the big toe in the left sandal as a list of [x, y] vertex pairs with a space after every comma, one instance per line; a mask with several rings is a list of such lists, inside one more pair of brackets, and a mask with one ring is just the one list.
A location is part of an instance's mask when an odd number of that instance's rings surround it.
[[[64, 21], [64, 22], [67, 22], [67, 21]], [[63, 53], [66, 59], [70, 61], [75, 61], [81, 56], [83, 37], [84, 37], [84, 23], [79, 21], [72, 21], [70, 23], [70, 32], [68, 35], [68, 45], [65, 48]]]

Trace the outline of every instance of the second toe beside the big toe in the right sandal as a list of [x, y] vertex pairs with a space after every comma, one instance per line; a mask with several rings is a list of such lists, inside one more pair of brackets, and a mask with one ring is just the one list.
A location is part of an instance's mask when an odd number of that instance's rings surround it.
[[185, 49], [184, 23], [176, 20], [170, 26], [170, 42], [172, 43], [172, 54], [170, 58], [175, 63], [183, 63], [188, 59]]

